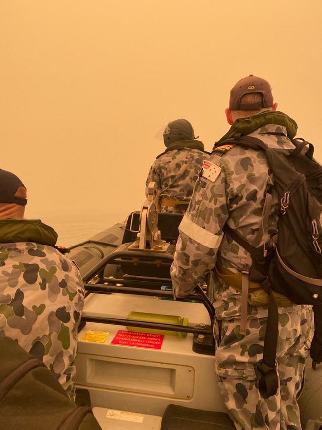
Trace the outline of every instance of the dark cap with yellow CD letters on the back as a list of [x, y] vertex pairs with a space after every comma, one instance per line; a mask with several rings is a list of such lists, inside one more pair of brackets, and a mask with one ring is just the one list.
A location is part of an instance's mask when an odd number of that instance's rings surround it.
[[[262, 102], [241, 103], [245, 94], [260, 93]], [[230, 91], [229, 109], [231, 111], [256, 111], [262, 108], [271, 108], [274, 104], [271, 86], [265, 79], [249, 75], [236, 83]]]

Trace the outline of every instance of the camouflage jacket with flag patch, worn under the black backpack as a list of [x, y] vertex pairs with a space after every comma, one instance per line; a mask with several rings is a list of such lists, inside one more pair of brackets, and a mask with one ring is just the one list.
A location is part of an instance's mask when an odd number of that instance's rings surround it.
[[[283, 132], [285, 136], [266, 134]], [[266, 124], [249, 134], [271, 147], [291, 148], [286, 137], [287, 129], [282, 125]], [[216, 165], [211, 175], [204, 170], [196, 182], [188, 210], [179, 226], [171, 277], [175, 295], [185, 297], [197, 283], [203, 281], [211, 271], [216, 259], [237, 273], [245, 263], [251, 263], [250, 254], [233, 240], [227, 240], [222, 229], [225, 223], [252, 243], [260, 229], [264, 193], [268, 183], [268, 164], [263, 151], [235, 146], [220, 156], [213, 153], [209, 160]], [[268, 220], [268, 233], [277, 227], [275, 212], [277, 198], [273, 200]], [[258, 246], [269, 239], [263, 237]], [[215, 277], [215, 308], [219, 319], [240, 315], [241, 293]], [[267, 314], [262, 309], [249, 305], [250, 314]]]

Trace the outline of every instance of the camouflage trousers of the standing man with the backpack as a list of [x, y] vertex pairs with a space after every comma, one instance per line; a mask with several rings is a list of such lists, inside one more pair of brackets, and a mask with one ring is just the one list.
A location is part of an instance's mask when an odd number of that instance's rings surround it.
[[266, 321], [266, 317], [250, 316], [245, 336], [239, 333], [239, 318], [221, 321], [221, 342], [215, 356], [221, 394], [236, 429], [300, 430], [297, 399], [313, 335], [313, 312], [300, 305], [279, 308], [278, 391], [263, 399], [254, 363], [263, 357]]

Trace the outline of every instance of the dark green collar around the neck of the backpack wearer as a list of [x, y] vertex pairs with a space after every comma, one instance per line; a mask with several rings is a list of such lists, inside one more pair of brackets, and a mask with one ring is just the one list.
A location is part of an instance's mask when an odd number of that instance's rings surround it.
[[215, 146], [224, 140], [231, 139], [235, 134], [247, 136], [258, 128], [268, 124], [282, 125], [286, 127], [287, 137], [290, 139], [293, 139], [296, 136], [297, 123], [292, 120], [292, 118], [279, 111], [263, 111], [257, 115], [253, 115], [252, 117], [239, 118], [236, 120], [232, 124], [228, 133], [226, 133], [218, 142], [216, 142]]

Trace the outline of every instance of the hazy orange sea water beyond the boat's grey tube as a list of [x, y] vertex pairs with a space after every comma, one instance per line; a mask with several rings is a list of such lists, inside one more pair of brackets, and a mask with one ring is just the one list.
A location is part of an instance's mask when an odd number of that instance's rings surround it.
[[[117, 213], [49, 213], [41, 216], [43, 223], [51, 226], [58, 233], [57, 245], [72, 246], [82, 242], [108, 227], [126, 220], [128, 212]], [[26, 218], [35, 218], [27, 214]], [[37, 217], [39, 218], [39, 216]]]

